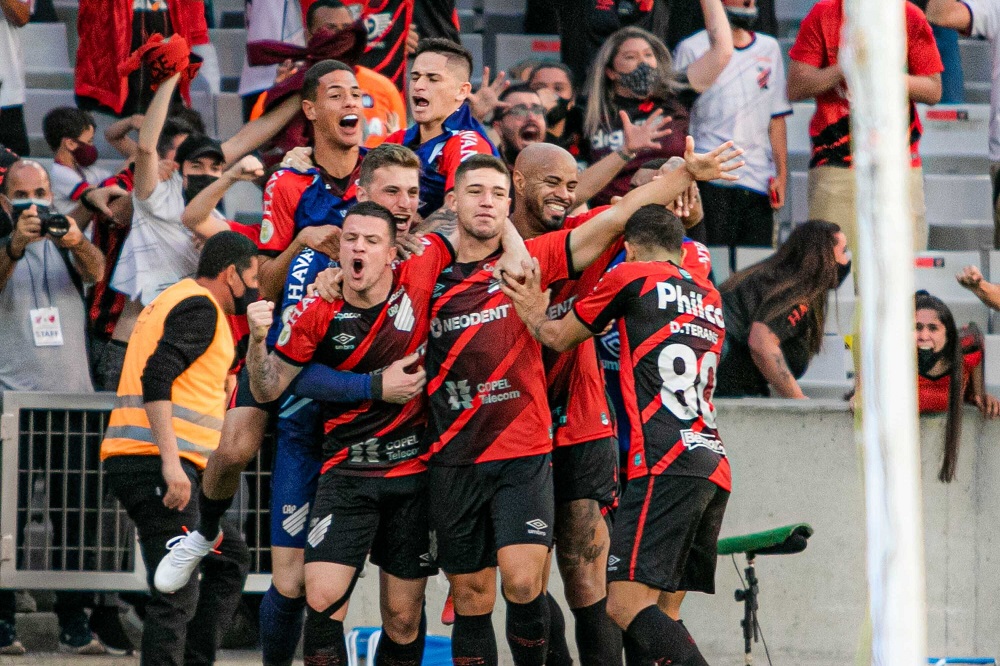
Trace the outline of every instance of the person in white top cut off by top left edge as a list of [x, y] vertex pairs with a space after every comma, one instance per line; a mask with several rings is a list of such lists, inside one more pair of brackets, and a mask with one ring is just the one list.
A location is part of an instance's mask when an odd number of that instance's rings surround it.
[[31, 18], [30, 0], [0, 0], [0, 144], [29, 154], [24, 124], [24, 54], [18, 28]]

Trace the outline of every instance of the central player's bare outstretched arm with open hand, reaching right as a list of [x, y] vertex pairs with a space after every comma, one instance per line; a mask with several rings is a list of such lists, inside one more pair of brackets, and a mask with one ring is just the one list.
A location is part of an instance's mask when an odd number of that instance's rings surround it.
[[618, 203], [594, 216], [570, 234], [573, 270], [583, 271], [594, 263], [625, 231], [625, 223], [643, 206], [666, 206], [684, 194], [696, 180], [737, 180], [732, 172], [743, 166], [742, 148], [727, 141], [708, 153], [694, 152], [694, 139], [687, 138], [684, 165], [667, 171], [653, 181], [635, 188]]

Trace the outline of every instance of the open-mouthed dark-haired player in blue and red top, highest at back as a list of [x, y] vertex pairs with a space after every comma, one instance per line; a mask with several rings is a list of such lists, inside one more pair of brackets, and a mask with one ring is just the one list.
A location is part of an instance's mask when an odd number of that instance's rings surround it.
[[469, 107], [471, 75], [472, 55], [464, 46], [440, 38], [417, 46], [409, 86], [415, 123], [386, 141], [412, 148], [420, 158], [423, 217], [441, 208], [460, 163], [480, 153], [499, 155]]

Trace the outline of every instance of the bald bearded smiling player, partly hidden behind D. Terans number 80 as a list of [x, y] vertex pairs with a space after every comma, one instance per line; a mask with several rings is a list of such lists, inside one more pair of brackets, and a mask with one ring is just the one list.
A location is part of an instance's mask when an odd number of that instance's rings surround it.
[[[738, 151], [732, 153], [734, 157], [737, 154]], [[683, 161], [678, 160], [680, 168], [684, 168]], [[536, 238], [559, 229], [574, 229], [602, 213], [624, 228], [628, 216], [636, 210], [635, 205], [602, 206], [581, 215], [566, 216], [576, 202], [577, 177], [576, 161], [568, 151], [551, 144], [524, 148], [514, 167], [517, 198], [512, 216], [522, 237]], [[723, 178], [736, 177], [725, 174]], [[552, 284], [549, 315], [558, 318], [568, 312], [574, 301], [593, 289], [621, 251], [619, 240], [578, 279]], [[621, 633], [605, 612], [610, 543], [606, 519], [618, 499], [614, 412], [608, 407], [604, 377], [592, 340], [585, 340], [562, 354], [545, 349], [542, 358], [555, 429], [552, 473], [557, 562], [567, 602], [576, 618], [581, 663], [608, 664], [621, 654]], [[553, 603], [550, 597], [550, 605]], [[553, 605], [552, 612], [556, 611]]]

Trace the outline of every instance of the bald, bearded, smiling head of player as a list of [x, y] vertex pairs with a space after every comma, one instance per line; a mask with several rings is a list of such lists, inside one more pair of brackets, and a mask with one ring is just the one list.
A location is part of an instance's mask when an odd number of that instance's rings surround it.
[[[562, 227], [576, 203], [576, 160], [551, 143], [525, 146], [514, 163], [515, 224], [531, 236]], [[520, 224], [519, 224], [520, 221]]]

